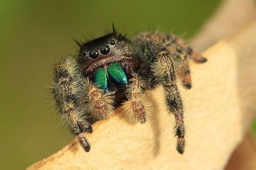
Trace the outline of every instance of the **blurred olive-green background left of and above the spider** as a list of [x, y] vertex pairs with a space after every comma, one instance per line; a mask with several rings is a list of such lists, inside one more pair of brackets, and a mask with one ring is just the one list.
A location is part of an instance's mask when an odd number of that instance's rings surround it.
[[[52, 106], [54, 63], [83, 40], [145, 30], [191, 38], [220, 0], [0, 1], [0, 169], [24, 169], [72, 141]], [[185, 34], [184, 34], [185, 33]]]

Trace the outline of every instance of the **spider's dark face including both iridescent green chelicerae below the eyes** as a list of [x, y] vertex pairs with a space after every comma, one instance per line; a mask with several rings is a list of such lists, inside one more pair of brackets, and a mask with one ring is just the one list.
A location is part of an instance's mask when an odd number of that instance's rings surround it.
[[84, 43], [79, 52], [83, 75], [104, 92], [129, 83], [136, 69], [133, 62], [131, 41], [117, 32]]

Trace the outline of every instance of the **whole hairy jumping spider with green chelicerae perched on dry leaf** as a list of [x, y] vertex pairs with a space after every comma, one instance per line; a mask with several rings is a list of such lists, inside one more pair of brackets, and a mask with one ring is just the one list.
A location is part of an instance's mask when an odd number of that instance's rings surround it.
[[143, 32], [134, 39], [115, 31], [80, 46], [79, 54], [56, 66], [53, 94], [58, 110], [76, 134], [86, 152], [90, 151], [83, 132], [92, 133], [88, 117], [108, 118], [122, 96], [127, 117], [144, 123], [150, 111], [145, 90], [163, 85], [168, 112], [175, 116], [177, 151], [184, 152], [183, 104], [177, 75], [191, 88], [189, 59], [206, 59], [174, 34]]

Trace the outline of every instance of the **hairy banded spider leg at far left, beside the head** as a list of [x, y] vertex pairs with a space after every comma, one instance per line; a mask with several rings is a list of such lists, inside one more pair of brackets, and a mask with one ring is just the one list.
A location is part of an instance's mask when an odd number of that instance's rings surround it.
[[53, 94], [59, 112], [70, 125], [74, 134], [76, 134], [84, 150], [89, 152], [90, 144], [83, 132], [92, 133], [92, 126], [86, 122], [83, 115], [84, 111], [81, 109], [81, 106], [79, 106], [81, 83], [77, 75], [79, 75], [79, 73], [74, 60], [68, 58], [60, 62], [60, 64], [56, 66], [56, 79]]

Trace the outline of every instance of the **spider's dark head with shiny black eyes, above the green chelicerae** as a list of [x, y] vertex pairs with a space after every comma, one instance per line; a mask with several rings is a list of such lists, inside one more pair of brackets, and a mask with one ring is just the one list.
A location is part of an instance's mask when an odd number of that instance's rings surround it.
[[112, 33], [81, 45], [79, 52], [79, 62], [85, 73], [92, 73], [98, 67], [108, 66], [115, 61], [124, 62], [131, 57], [130, 40], [114, 28]]

